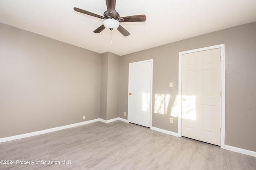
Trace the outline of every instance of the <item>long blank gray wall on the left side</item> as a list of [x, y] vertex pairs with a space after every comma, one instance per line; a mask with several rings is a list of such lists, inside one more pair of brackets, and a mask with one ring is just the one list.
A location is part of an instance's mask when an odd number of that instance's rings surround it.
[[0, 138], [100, 116], [100, 54], [0, 23]]

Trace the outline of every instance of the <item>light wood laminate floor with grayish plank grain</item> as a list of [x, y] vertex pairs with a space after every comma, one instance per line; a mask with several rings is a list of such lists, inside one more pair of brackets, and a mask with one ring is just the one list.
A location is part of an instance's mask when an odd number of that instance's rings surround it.
[[[0, 143], [0, 160], [15, 161], [15, 164], [0, 164], [1, 170], [256, 169], [255, 157], [122, 121], [90, 123]], [[34, 161], [34, 165], [16, 161]]]

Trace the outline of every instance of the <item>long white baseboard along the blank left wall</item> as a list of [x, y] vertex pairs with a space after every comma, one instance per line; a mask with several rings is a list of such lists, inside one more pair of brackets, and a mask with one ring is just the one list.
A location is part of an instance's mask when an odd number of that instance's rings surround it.
[[70, 127], [86, 125], [88, 123], [94, 123], [96, 121], [100, 121], [100, 120], [99, 119], [94, 119], [94, 120], [89, 120], [89, 121], [83, 121], [83, 122], [80, 122], [80, 123], [74, 123], [74, 124], [71, 124], [71, 125], [54, 127], [54, 128], [51, 128], [51, 129], [45, 129], [45, 130], [42, 130], [42, 131], [25, 133], [25, 134], [15, 135], [15, 136], [11, 136], [11, 137], [4, 137], [4, 138], [0, 138], [0, 143], [7, 142], [7, 141], [13, 141], [13, 140], [16, 140], [16, 139], [22, 139], [22, 138], [26, 138], [26, 137], [32, 137], [32, 136], [36, 136], [36, 135], [42, 135], [44, 133], [50, 133], [50, 132], [59, 131], [59, 130], [62, 130], [62, 129], [68, 129]]

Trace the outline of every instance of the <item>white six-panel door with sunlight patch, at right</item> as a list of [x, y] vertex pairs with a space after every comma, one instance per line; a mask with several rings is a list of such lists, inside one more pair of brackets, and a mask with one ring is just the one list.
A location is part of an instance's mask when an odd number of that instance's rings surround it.
[[182, 136], [220, 146], [221, 49], [182, 55]]

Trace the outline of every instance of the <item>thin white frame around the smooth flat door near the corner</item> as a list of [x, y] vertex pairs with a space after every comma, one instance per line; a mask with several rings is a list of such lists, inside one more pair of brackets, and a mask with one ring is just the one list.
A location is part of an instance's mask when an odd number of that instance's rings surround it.
[[[150, 62], [151, 63], [151, 81], [150, 81], [150, 127], [152, 127], [152, 87], [153, 87], [153, 59], [149, 59], [149, 60], [144, 60], [144, 61], [137, 61], [137, 62], [132, 62], [132, 63], [145, 63], [145, 62]], [[130, 64], [129, 63], [129, 75], [128, 75], [128, 93], [130, 92]], [[129, 121], [129, 94], [128, 94], [128, 108], [127, 108], [127, 113], [128, 113], [128, 123]]]

